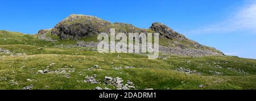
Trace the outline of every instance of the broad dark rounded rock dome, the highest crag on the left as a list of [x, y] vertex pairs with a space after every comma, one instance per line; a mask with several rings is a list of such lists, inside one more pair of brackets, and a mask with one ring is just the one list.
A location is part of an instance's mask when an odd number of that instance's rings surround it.
[[60, 39], [80, 39], [106, 31], [110, 22], [86, 15], [70, 15], [52, 29]]

